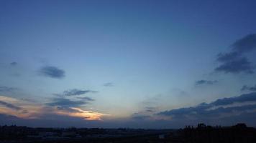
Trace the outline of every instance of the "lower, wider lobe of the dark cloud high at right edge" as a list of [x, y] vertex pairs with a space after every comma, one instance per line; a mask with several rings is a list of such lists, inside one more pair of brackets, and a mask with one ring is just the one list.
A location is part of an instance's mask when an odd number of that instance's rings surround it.
[[215, 71], [224, 71], [224, 73], [233, 74], [241, 72], [248, 74], [254, 73], [252, 64], [245, 57], [224, 62], [220, 66], [216, 67]]

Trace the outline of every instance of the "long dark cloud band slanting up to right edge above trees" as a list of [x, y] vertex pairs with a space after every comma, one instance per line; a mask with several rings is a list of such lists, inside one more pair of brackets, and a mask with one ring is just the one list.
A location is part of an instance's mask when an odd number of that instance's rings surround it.
[[[188, 119], [202, 119], [202, 118], [218, 118], [221, 114], [232, 114], [236, 112], [246, 112], [250, 109], [256, 109], [255, 104], [244, 104], [236, 105], [236, 103], [245, 103], [245, 102], [256, 102], [256, 92], [250, 94], [242, 94], [239, 97], [230, 97], [224, 99], [217, 99], [214, 102], [209, 104], [201, 103], [195, 107], [185, 107], [180, 109], [172, 109], [165, 112], [160, 112], [158, 114], [171, 116], [173, 119], [178, 119], [180, 117]], [[230, 106], [232, 105], [232, 106]], [[225, 107], [226, 106], [226, 107]], [[229, 106], [229, 107], [228, 107]]]

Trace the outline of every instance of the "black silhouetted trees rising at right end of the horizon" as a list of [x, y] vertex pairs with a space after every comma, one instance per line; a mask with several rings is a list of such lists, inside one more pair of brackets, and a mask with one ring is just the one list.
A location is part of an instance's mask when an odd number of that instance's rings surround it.
[[255, 143], [256, 129], [246, 124], [237, 124], [232, 127], [211, 127], [198, 124], [198, 127], [187, 126], [180, 131], [183, 142], [191, 143]]

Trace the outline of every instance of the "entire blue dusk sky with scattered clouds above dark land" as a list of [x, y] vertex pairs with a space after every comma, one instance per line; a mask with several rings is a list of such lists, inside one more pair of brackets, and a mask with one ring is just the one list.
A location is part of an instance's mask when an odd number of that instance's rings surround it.
[[253, 0], [0, 1], [0, 125], [256, 127]]

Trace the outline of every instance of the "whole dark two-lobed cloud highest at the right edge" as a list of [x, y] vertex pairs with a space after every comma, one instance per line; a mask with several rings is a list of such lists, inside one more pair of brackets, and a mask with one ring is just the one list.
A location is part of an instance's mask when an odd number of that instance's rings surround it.
[[249, 34], [242, 39], [238, 39], [232, 44], [232, 51], [226, 54], [218, 54], [217, 61], [221, 64], [215, 68], [215, 71], [224, 73], [254, 73], [254, 67], [244, 54], [256, 50], [256, 34]]

